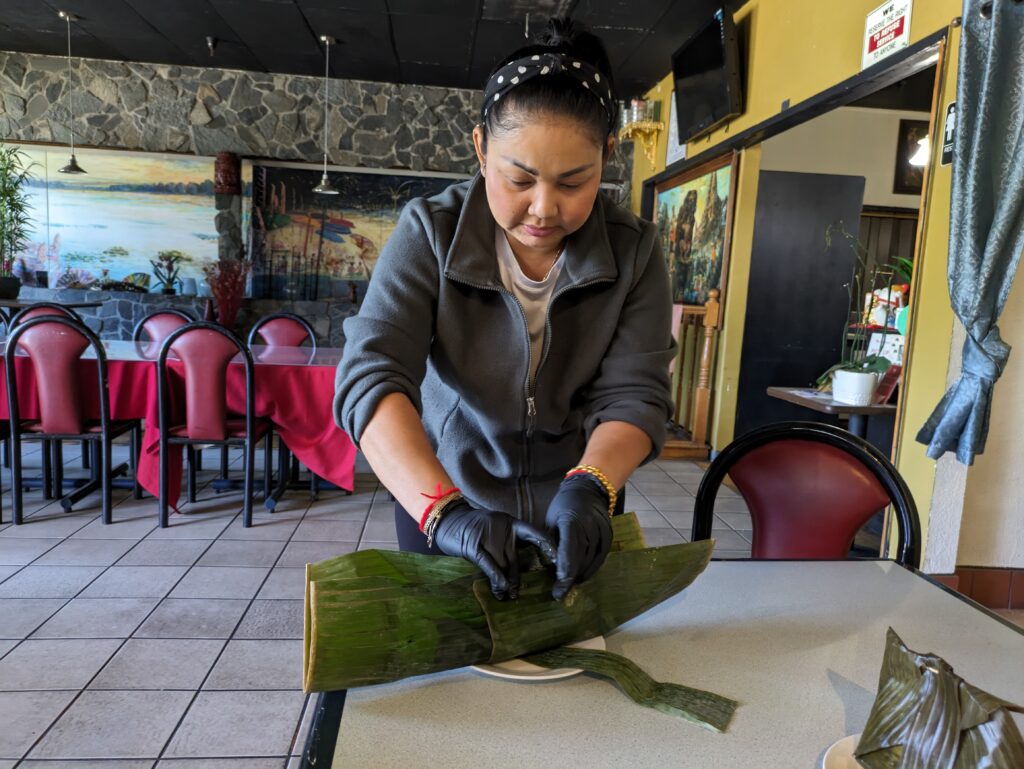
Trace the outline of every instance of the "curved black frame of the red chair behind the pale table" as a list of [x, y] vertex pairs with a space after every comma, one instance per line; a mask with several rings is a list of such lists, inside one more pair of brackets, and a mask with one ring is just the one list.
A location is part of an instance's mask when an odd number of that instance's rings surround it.
[[735, 463], [759, 446], [779, 440], [810, 440], [825, 443], [845, 452], [878, 479], [889, 494], [896, 513], [897, 542], [895, 560], [903, 566], [919, 568], [921, 564], [921, 522], [918, 506], [899, 471], [882, 452], [863, 438], [834, 425], [817, 422], [778, 422], [736, 438], [711, 463], [697, 487], [693, 506], [692, 539], [711, 539], [715, 518], [715, 498], [719, 486]]

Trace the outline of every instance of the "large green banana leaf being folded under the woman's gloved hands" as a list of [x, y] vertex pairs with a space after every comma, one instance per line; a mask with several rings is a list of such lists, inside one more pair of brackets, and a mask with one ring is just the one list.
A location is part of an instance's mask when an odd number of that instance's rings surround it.
[[572, 667], [615, 683], [634, 701], [725, 731], [736, 702], [653, 681], [607, 651], [566, 647], [614, 630], [679, 593], [703, 571], [714, 541], [645, 548], [636, 516], [616, 516], [597, 573], [563, 601], [553, 569], [520, 551], [519, 597], [498, 601], [462, 558], [365, 550], [306, 566], [303, 688], [333, 691], [514, 657]]

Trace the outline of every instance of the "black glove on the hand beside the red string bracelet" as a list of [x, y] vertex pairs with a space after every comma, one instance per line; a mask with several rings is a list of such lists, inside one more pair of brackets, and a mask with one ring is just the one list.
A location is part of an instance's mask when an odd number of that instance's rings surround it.
[[447, 506], [434, 531], [437, 548], [475, 563], [490, 581], [490, 592], [499, 601], [519, 595], [519, 540], [554, 560], [555, 547], [543, 531], [507, 513], [478, 510], [465, 500]]

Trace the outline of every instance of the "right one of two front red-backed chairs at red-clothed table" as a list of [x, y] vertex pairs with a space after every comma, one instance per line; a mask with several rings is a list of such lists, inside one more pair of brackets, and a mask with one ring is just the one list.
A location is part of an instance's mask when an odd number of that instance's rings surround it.
[[[171, 414], [168, 355], [173, 352], [184, 369], [184, 418]], [[241, 355], [245, 367], [246, 404], [242, 417], [227, 410], [227, 369]], [[164, 340], [157, 357], [157, 397], [160, 409], [160, 525], [168, 525], [168, 479], [171, 445], [241, 445], [245, 453], [243, 525], [252, 525], [253, 464], [256, 441], [263, 438], [263, 494], [269, 493], [269, 420], [257, 419], [256, 376], [252, 353], [234, 334], [206, 321], [175, 329]], [[195, 463], [188, 465], [188, 501], [195, 502]]]

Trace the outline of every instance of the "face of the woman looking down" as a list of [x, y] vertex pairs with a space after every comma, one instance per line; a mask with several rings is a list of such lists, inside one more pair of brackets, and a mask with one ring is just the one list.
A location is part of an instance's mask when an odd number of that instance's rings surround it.
[[601, 183], [604, 147], [578, 121], [530, 116], [513, 131], [488, 136], [486, 153], [477, 126], [473, 143], [490, 213], [514, 252], [557, 252], [587, 221]]

